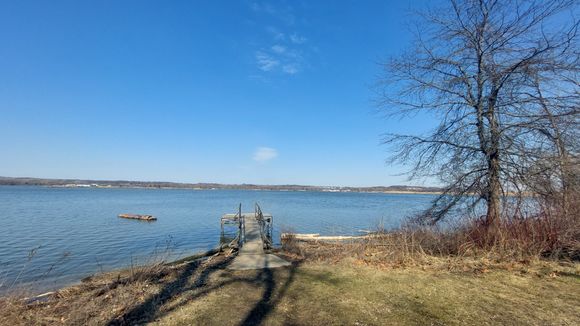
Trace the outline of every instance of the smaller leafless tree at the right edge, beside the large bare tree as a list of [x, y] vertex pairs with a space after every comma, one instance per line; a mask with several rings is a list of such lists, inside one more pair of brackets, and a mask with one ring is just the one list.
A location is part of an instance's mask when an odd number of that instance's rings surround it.
[[526, 153], [527, 165], [522, 173], [525, 177], [522, 183], [563, 214], [570, 213], [570, 206], [580, 190], [577, 141], [580, 137], [580, 96], [576, 82], [578, 76], [573, 67], [567, 67], [566, 72], [574, 75], [556, 79], [556, 83], [552, 80], [551, 85], [540, 81], [538, 76], [530, 80], [525, 94], [530, 100], [520, 109], [533, 118], [528, 118], [524, 131], [534, 136], [536, 144], [542, 144], [541, 147], [527, 146], [520, 149]]

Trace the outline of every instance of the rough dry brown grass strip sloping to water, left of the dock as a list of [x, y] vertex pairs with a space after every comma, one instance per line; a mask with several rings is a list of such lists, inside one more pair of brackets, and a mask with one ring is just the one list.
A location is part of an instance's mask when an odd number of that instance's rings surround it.
[[156, 262], [86, 278], [41, 300], [0, 299], [0, 325], [132, 325], [148, 320], [189, 277], [219, 268], [225, 255], [180, 264]]

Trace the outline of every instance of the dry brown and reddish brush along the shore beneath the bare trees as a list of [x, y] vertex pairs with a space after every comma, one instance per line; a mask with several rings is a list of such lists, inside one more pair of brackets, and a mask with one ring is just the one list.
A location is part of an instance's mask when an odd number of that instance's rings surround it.
[[483, 218], [444, 227], [409, 221], [398, 229], [378, 228], [368, 236], [349, 241], [296, 242], [295, 238], [289, 239], [291, 245], [287, 246], [301, 250], [308, 259], [355, 259], [379, 266], [425, 266], [444, 261], [442, 267], [447, 269], [477, 271], [490, 264], [512, 266], [541, 258], [580, 260], [578, 215], [559, 214], [556, 210], [506, 218], [493, 233]]

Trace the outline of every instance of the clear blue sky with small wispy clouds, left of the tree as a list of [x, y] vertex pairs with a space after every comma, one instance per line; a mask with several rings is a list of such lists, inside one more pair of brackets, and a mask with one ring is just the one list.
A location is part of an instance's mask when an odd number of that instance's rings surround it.
[[409, 184], [371, 86], [424, 5], [0, 1], [0, 175]]

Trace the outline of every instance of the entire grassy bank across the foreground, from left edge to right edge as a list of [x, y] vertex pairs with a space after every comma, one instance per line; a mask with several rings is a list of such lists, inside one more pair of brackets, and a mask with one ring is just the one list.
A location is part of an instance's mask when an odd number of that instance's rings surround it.
[[104, 274], [46, 301], [4, 299], [0, 324], [580, 324], [577, 263], [389, 265], [320, 245], [300, 251], [273, 270], [228, 271], [233, 256], [222, 254]]

